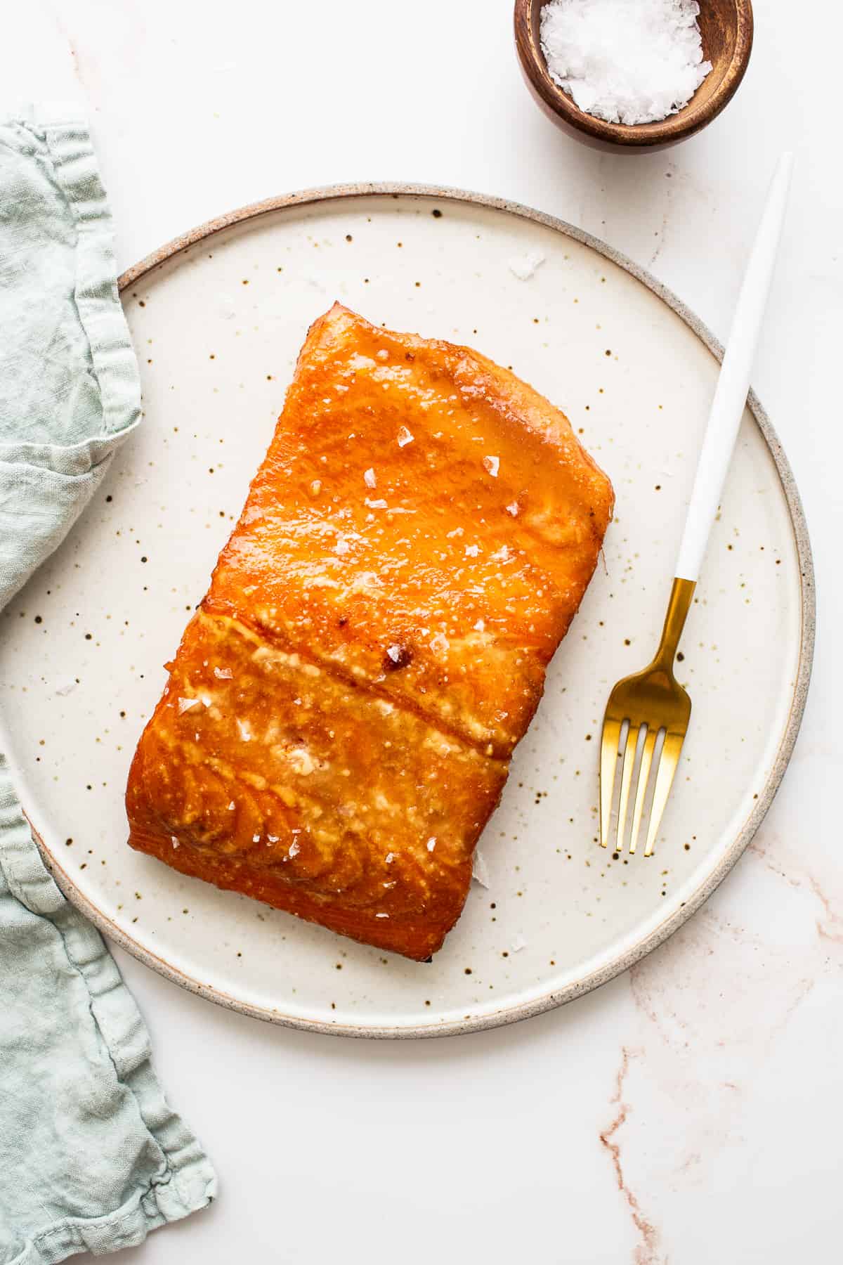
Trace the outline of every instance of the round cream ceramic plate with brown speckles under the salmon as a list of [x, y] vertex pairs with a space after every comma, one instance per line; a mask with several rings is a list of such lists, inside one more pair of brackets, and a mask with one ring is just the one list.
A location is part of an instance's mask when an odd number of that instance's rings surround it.
[[[0, 630], [4, 745], [71, 899], [186, 988], [353, 1036], [523, 1018], [670, 935], [770, 805], [811, 659], [805, 524], [753, 401], [685, 635], [694, 719], [662, 837], [652, 860], [600, 851], [603, 706], [661, 625], [718, 372], [707, 330], [566, 224], [408, 187], [334, 188], [235, 213], [133, 268], [123, 290], [145, 423]], [[305, 330], [334, 299], [511, 364], [565, 409], [617, 491], [605, 565], [480, 842], [488, 887], [473, 884], [430, 965], [182, 878], [125, 845], [126, 773], [162, 664], [240, 510]]]

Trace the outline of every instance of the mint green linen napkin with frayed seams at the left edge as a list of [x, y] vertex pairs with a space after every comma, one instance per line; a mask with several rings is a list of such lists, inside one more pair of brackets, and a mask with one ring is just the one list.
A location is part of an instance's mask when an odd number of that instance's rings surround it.
[[[0, 121], [0, 607], [139, 419], [87, 125]], [[214, 1198], [149, 1060], [138, 1007], [44, 868], [0, 753], [0, 1265], [134, 1245]]]

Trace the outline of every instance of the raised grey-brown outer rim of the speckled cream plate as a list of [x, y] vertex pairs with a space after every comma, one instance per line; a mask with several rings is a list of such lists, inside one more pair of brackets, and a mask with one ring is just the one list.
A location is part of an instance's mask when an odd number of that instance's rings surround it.
[[[655, 293], [656, 297], [661, 299], [661, 301], [665, 302], [690, 328], [690, 330], [700, 339], [700, 342], [708, 348], [718, 362], [722, 362], [723, 359], [723, 347], [704, 321], [701, 321], [699, 316], [696, 316], [696, 314], [686, 306], [686, 304], [684, 304], [671, 290], [669, 290], [667, 286], [662, 285], [662, 282], [653, 277], [652, 273], [650, 273], [646, 268], [640, 267], [621, 250], [616, 250], [600, 238], [584, 231], [574, 224], [569, 224], [559, 216], [549, 215], [546, 211], [538, 211], [522, 202], [512, 201], [511, 199], [495, 197], [488, 194], [479, 194], [449, 186], [407, 183], [401, 181], [363, 181], [356, 183], [324, 185], [313, 188], [300, 190], [292, 194], [282, 194], [276, 197], [267, 197], [258, 202], [250, 202], [245, 206], [238, 207], [236, 210], [227, 211], [224, 215], [206, 220], [203, 224], [190, 229], [187, 233], [182, 233], [171, 242], [159, 247], [157, 250], [153, 250], [152, 254], [148, 254], [133, 267], [126, 268], [125, 272], [123, 272], [118, 278], [118, 291], [123, 295], [130, 286], [136, 285], [138, 281], [154, 272], [174, 256], [187, 250], [196, 243], [222, 231], [224, 229], [241, 224], [246, 220], [259, 219], [260, 216], [272, 214], [273, 211], [282, 211], [294, 206], [307, 206], [325, 201], [336, 201], [345, 197], [430, 197], [439, 199], [441, 201], [455, 201], [474, 206], [483, 206], [490, 210], [504, 211], [508, 215], [514, 215], [519, 219], [541, 224], [545, 228], [550, 228], [556, 233], [561, 233], [564, 237], [579, 242], [581, 245], [589, 247], [598, 254], [617, 264], [624, 272], [629, 273], [646, 286], [647, 290]], [[573, 980], [562, 988], [551, 989], [541, 997], [532, 998], [531, 1001], [502, 1007], [489, 1015], [465, 1016], [461, 1020], [451, 1020], [445, 1023], [430, 1022], [397, 1027], [370, 1023], [331, 1023], [324, 1020], [301, 1018], [300, 1016], [286, 1015], [277, 1008], [244, 1002], [222, 989], [215, 988], [214, 985], [203, 983], [200, 979], [193, 979], [183, 970], [173, 966], [162, 956], [153, 953], [145, 945], [139, 944], [128, 932], [106, 917], [86, 896], [82, 894], [82, 892], [76, 888], [68, 873], [48, 850], [34, 822], [27, 815], [27, 820], [29, 821], [33, 831], [33, 837], [42, 851], [44, 863], [53, 874], [53, 878], [56, 879], [62, 893], [87, 918], [90, 918], [99, 931], [101, 931], [111, 941], [118, 944], [121, 949], [129, 953], [133, 958], [136, 958], [144, 965], [158, 972], [159, 975], [163, 975], [172, 983], [187, 989], [187, 992], [195, 993], [196, 996], [203, 997], [207, 1001], [215, 1002], [219, 1006], [224, 1006], [227, 1009], [236, 1011], [238, 1013], [246, 1015], [252, 1018], [259, 1018], [283, 1027], [292, 1027], [330, 1036], [412, 1040], [417, 1037], [458, 1036], [468, 1032], [483, 1032], [489, 1028], [500, 1027], [506, 1023], [519, 1022], [521, 1020], [532, 1018], [535, 1015], [542, 1015], [546, 1011], [555, 1009], [557, 1006], [562, 1006], [578, 997], [584, 996], [585, 993], [591, 992], [594, 988], [599, 988], [602, 984], [614, 979], [616, 975], [628, 970], [629, 966], [633, 966], [637, 961], [641, 961], [642, 958], [652, 953], [653, 949], [658, 947], [658, 945], [664, 944], [665, 940], [684, 926], [684, 923], [688, 922], [688, 920], [705, 903], [705, 901], [708, 901], [753, 839], [761, 822], [767, 815], [767, 811], [785, 775], [805, 711], [814, 660], [816, 625], [814, 564], [808, 521], [790, 462], [787, 460], [785, 450], [766, 410], [752, 390], [747, 397], [747, 407], [749, 409], [749, 412], [752, 414], [761, 434], [763, 435], [767, 448], [770, 449], [770, 454], [776, 467], [776, 473], [785, 493], [800, 571], [800, 645], [790, 712], [767, 782], [763, 789], [758, 793], [758, 798], [755, 802], [752, 812], [743, 822], [743, 826], [737, 832], [736, 837], [727, 846], [719, 863], [708, 874], [705, 880], [700, 883], [694, 893], [689, 896], [682, 906], [665, 917], [657, 927], [648, 932], [648, 935], [643, 936], [612, 961], [604, 963], [602, 966], [588, 972], [580, 979]]]

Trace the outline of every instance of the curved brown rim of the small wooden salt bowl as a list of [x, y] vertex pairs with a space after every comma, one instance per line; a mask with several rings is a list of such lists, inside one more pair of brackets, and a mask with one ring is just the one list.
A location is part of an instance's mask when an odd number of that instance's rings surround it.
[[[532, 34], [532, 13], [542, 8], [547, 0], [516, 0], [514, 34], [516, 48], [521, 66], [549, 110], [564, 123], [584, 132], [595, 140], [626, 147], [646, 147], [682, 140], [693, 135], [715, 119], [737, 92], [746, 73], [752, 52], [755, 19], [752, 0], [733, 0], [737, 18], [737, 33], [732, 57], [723, 72], [717, 89], [700, 105], [686, 105], [677, 114], [670, 114], [660, 123], [607, 123], [580, 110], [574, 100], [550, 77], [545, 57]], [[705, 3], [705, 0], [703, 0]]]

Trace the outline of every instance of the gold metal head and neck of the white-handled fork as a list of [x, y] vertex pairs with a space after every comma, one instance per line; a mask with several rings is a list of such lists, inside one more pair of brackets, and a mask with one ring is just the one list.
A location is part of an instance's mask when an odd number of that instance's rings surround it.
[[652, 855], [691, 715], [691, 701], [674, 677], [674, 659], [695, 587], [691, 579], [674, 581], [655, 659], [643, 672], [618, 681], [609, 694], [600, 744], [602, 848], [608, 848], [612, 837], [614, 783], [621, 760], [613, 850], [623, 851], [632, 801], [629, 853], [636, 851], [648, 801], [645, 856]]

